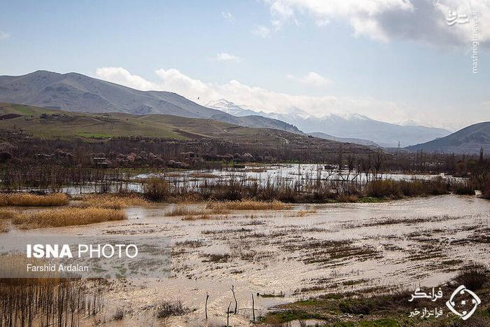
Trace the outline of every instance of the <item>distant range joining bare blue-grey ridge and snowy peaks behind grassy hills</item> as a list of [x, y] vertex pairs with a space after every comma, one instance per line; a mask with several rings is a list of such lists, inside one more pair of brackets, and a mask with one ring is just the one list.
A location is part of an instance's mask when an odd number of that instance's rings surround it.
[[[0, 102], [28, 104], [86, 113], [165, 114], [206, 118], [244, 127], [271, 128], [295, 134], [384, 147], [410, 146], [445, 137], [450, 132], [434, 127], [395, 125], [357, 113], [311, 116], [300, 109], [266, 113], [220, 99], [202, 106], [165, 91], [141, 91], [77, 73], [34, 71], [23, 76], [0, 76]], [[372, 144], [370, 144], [372, 145]]]

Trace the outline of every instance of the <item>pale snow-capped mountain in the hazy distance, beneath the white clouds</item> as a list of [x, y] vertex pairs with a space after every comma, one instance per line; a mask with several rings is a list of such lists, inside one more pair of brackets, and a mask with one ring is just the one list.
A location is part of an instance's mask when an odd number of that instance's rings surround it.
[[260, 109], [251, 110], [249, 106], [237, 105], [226, 99], [207, 104], [207, 107], [234, 116], [258, 115], [282, 120], [305, 133], [322, 132], [335, 137], [370, 140], [386, 147], [396, 147], [398, 142], [401, 146], [420, 144], [450, 134], [441, 128], [385, 123], [359, 113], [328, 113], [315, 117], [297, 108], [290, 108], [286, 113], [267, 113]]

